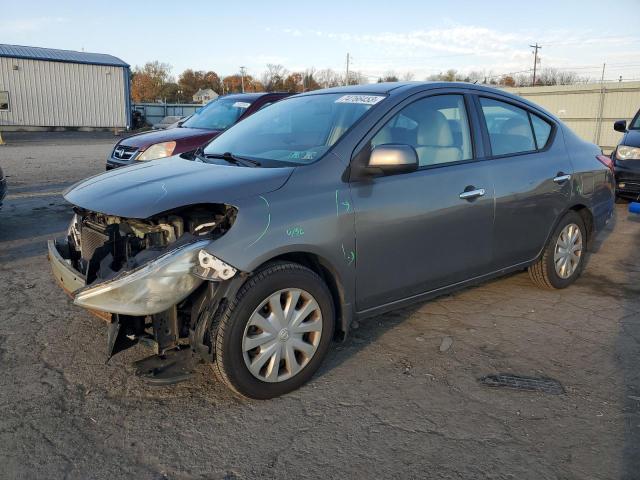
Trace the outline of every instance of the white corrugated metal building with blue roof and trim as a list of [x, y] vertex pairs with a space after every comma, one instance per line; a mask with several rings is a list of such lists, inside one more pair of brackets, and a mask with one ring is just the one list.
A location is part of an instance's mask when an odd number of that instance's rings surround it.
[[130, 77], [111, 55], [0, 44], [0, 130], [128, 128]]

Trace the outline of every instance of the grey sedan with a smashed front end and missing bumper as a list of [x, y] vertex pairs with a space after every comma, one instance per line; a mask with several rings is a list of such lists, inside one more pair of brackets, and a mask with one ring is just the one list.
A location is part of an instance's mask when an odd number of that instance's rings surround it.
[[610, 167], [491, 88], [320, 90], [194, 160], [80, 182], [49, 258], [76, 305], [108, 312], [109, 350], [155, 346], [155, 380], [192, 351], [235, 392], [269, 398], [309, 380], [354, 319], [524, 268], [542, 288], [571, 285], [613, 213]]

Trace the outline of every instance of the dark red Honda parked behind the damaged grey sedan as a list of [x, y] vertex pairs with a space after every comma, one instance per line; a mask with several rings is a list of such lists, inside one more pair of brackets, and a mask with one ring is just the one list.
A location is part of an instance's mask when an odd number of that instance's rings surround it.
[[263, 92], [219, 97], [177, 128], [144, 132], [120, 140], [107, 159], [107, 170], [193, 152], [231, 125], [289, 95]]

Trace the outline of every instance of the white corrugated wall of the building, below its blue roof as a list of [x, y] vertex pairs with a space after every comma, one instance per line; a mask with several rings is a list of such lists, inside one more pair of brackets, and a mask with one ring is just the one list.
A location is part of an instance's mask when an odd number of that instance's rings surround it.
[[[14, 70], [14, 65], [17, 70]], [[125, 128], [123, 67], [0, 57], [1, 126]]]

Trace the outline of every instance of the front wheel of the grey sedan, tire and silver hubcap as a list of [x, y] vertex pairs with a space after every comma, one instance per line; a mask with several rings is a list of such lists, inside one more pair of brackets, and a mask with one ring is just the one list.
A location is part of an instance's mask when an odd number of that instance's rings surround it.
[[315, 272], [297, 263], [268, 264], [240, 288], [211, 332], [214, 371], [246, 397], [289, 393], [318, 370], [334, 327], [331, 294]]

